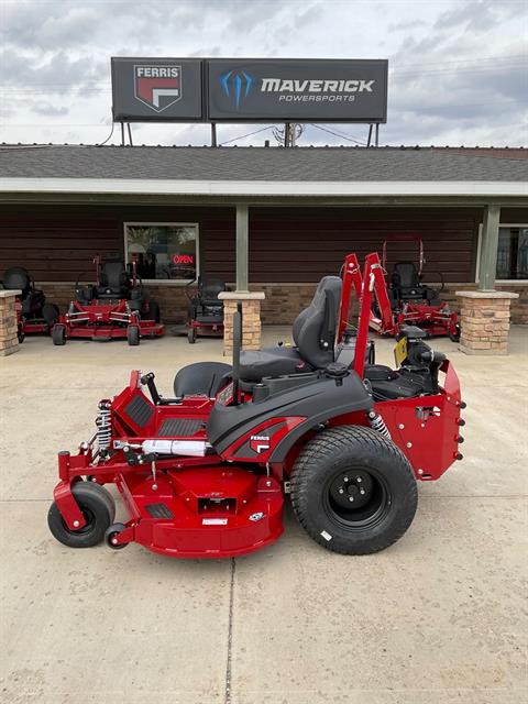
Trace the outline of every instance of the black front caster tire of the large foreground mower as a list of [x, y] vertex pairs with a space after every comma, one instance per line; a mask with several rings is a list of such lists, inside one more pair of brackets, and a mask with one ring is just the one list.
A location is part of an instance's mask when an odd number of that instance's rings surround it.
[[86, 525], [78, 530], [70, 530], [53, 502], [47, 514], [47, 525], [53, 536], [68, 548], [91, 548], [105, 537], [105, 531], [113, 520], [111, 505], [113, 499], [105, 487], [91, 482], [76, 482], [72, 486], [72, 494], [79, 505]]

